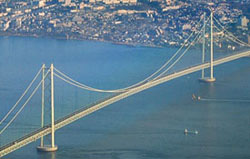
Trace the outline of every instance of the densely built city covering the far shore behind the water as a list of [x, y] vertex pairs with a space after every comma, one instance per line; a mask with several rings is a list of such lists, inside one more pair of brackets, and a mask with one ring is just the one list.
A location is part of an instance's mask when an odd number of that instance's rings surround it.
[[[237, 29], [236, 34], [242, 40], [248, 40], [248, 36], [242, 33], [249, 34], [248, 12], [237, 5], [233, 8], [232, 2], [226, 1], [190, 1], [189, 4], [169, 0], [40, 0], [31, 1], [33, 3], [19, 1], [13, 3], [15, 6], [4, 2], [0, 6], [2, 35], [50, 36], [161, 47], [180, 45], [204, 12], [210, 14], [209, 7], [217, 10], [215, 16], [226, 27]], [[244, 3], [248, 4], [248, 1]]]

